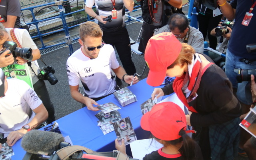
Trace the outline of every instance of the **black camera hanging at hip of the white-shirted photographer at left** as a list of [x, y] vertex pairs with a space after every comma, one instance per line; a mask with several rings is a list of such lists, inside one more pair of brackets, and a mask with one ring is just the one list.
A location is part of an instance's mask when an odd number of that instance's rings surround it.
[[57, 78], [53, 75], [55, 70], [52, 66], [45, 66], [40, 68], [40, 73], [38, 74], [38, 79], [40, 80], [48, 80], [50, 84], [54, 85], [58, 82]]

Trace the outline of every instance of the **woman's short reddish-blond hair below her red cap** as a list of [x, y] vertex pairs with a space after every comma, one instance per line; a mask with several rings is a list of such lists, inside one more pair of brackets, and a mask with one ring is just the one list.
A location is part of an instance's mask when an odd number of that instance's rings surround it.
[[182, 43], [181, 45], [182, 48], [178, 58], [170, 66], [168, 66], [168, 69], [173, 68], [176, 64], [182, 64], [182, 66], [184, 66], [184, 64], [192, 63], [192, 58], [194, 54], [196, 54], [196, 51], [189, 44]]

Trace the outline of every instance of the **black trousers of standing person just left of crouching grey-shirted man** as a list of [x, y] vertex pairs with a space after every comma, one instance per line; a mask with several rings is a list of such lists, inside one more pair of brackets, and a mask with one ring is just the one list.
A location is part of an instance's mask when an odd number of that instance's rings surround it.
[[154, 30], [156, 28], [161, 28], [161, 26], [153, 26], [145, 22], [142, 24], [141, 38], [140, 38], [140, 44], [138, 48], [140, 52], [145, 53], [148, 40], [153, 36]]

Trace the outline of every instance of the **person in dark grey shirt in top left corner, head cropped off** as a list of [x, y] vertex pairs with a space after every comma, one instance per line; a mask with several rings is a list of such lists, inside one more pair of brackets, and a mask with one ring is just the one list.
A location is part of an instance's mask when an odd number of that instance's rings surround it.
[[19, 0], [0, 0], [0, 22], [5, 28], [20, 28]]

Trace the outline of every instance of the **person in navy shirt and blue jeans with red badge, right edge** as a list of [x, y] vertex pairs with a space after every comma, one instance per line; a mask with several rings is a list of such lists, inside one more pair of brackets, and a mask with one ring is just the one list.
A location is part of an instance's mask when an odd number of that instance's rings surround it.
[[[252, 100], [247, 98], [246, 84], [248, 82], [237, 83], [235, 68], [255, 69], [256, 68], [256, 52], [248, 52], [246, 45], [256, 43], [256, 0], [218, 0], [222, 14], [228, 19], [236, 19], [232, 28], [232, 36], [230, 37], [228, 50], [226, 52], [226, 75], [233, 85], [234, 93], [242, 105], [242, 114], [249, 111]], [[254, 14], [252, 16], [252, 14]], [[245, 130], [241, 130], [240, 149], [248, 140], [250, 134]], [[240, 150], [242, 156], [246, 154]]]

